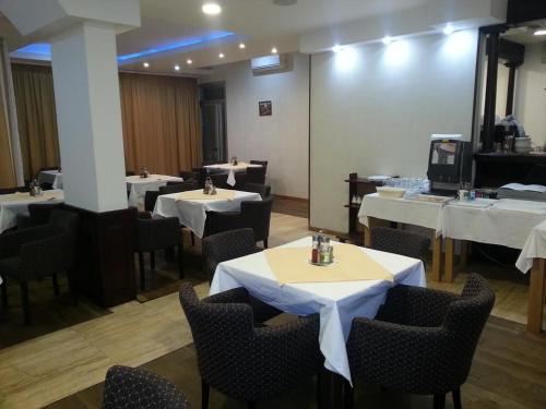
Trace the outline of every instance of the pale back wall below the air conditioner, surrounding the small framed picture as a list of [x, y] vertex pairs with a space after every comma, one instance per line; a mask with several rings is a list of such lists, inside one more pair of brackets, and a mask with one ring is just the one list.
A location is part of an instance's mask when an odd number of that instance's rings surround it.
[[[292, 71], [253, 75], [250, 61], [214, 68], [201, 82], [225, 81], [228, 157], [266, 159], [274, 194], [308, 196], [309, 60], [294, 55]], [[271, 100], [273, 115], [260, 117], [258, 103]]]

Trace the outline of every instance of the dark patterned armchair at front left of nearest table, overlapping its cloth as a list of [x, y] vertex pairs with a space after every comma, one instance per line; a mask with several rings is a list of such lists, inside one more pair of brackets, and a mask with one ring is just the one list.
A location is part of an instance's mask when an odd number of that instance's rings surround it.
[[[180, 287], [202, 380], [202, 408], [209, 388], [254, 402], [292, 389], [314, 375], [323, 358], [319, 314], [277, 326], [254, 326], [259, 317], [249, 294], [236, 288], [199, 301], [190, 284]], [[254, 321], [256, 320], [256, 321]]]

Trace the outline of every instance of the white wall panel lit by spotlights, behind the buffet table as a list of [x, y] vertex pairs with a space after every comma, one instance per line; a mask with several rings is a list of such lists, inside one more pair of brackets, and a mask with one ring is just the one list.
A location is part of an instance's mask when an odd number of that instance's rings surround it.
[[471, 139], [477, 32], [311, 60], [311, 220], [347, 230], [349, 172], [425, 177], [431, 133]]

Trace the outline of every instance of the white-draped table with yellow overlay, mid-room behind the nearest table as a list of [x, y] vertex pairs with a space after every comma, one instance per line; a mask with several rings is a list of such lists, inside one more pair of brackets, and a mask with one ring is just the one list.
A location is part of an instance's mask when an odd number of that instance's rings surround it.
[[216, 194], [204, 194], [202, 189], [157, 197], [154, 216], [178, 217], [180, 224], [202, 238], [206, 212], [238, 212], [244, 201], [261, 201], [258, 193], [216, 189]]

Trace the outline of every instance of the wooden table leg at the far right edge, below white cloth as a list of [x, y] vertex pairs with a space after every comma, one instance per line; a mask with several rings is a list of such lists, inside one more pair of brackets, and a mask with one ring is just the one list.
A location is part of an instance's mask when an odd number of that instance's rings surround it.
[[527, 301], [527, 330], [539, 334], [543, 327], [546, 261], [535, 258], [531, 268]]

